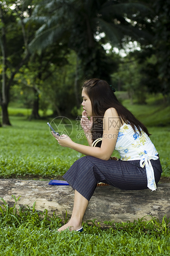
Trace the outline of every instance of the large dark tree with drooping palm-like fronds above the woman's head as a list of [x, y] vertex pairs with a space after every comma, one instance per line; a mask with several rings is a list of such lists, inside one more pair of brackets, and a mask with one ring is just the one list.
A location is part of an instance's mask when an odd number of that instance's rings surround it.
[[[42, 15], [43, 9], [46, 10], [45, 16]], [[120, 46], [123, 40], [149, 40], [149, 33], [144, 27], [141, 30], [134, 22], [131, 24], [128, 21], [138, 11], [145, 17], [149, 8], [139, 2], [127, 3], [122, 0], [40, 2], [31, 19], [38, 21], [41, 26], [30, 47], [32, 50], [42, 50], [53, 42], [67, 41], [68, 47], [78, 56], [78, 79], [100, 77], [110, 81], [116, 63], [106, 55], [102, 44], [110, 42]], [[143, 22], [147, 21], [143, 19]]]

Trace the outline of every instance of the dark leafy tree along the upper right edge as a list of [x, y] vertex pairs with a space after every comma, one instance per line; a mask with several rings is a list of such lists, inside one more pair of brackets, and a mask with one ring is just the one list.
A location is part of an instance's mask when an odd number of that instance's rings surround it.
[[153, 9], [147, 17], [153, 36], [151, 43], [136, 55], [142, 64], [141, 86], [146, 85], [148, 92], [161, 92], [166, 98], [170, 93], [170, 1], [151, 0], [148, 4]]

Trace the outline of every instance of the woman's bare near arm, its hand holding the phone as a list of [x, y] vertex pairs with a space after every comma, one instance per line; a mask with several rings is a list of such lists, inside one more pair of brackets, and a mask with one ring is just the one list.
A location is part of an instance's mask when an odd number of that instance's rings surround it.
[[87, 156], [94, 156], [99, 159], [109, 160], [116, 145], [119, 129], [120, 119], [118, 118], [116, 110], [114, 108], [110, 108], [107, 109], [104, 114], [103, 140], [101, 147], [80, 145], [73, 142], [71, 138], [66, 135], [62, 135], [59, 138], [56, 137], [56, 139], [62, 147], [69, 147]]

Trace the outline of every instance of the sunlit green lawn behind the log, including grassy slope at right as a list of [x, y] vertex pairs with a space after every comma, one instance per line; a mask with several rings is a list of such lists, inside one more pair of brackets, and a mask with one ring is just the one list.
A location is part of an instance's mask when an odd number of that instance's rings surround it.
[[[151, 140], [161, 159], [162, 176], [170, 177], [170, 107], [158, 104], [161, 100], [159, 97], [156, 102], [154, 97], [149, 97], [147, 105], [130, 105], [128, 100], [124, 104], [144, 124], [148, 124]], [[61, 177], [74, 161], [83, 156], [71, 149], [59, 147], [47, 126], [47, 121], [52, 121], [51, 118], [28, 121], [27, 109], [9, 109], [9, 113], [12, 111], [12, 126], [0, 128], [0, 178]], [[78, 127], [79, 122], [71, 122], [73, 131], [69, 132], [73, 141], [87, 145], [83, 131]], [[117, 151], [113, 155], [119, 157]]]

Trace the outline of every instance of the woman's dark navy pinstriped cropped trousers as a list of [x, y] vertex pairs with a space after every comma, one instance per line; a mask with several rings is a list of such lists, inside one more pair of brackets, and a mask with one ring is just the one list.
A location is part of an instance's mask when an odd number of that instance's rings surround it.
[[[159, 159], [151, 160], [155, 181], [161, 178], [161, 164]], [[92, 197], [97, 183], [103, 182], [122, 190], [147, 189], [146, 169], [140, 167], [140, 160], [115, 161], [102, 160], [93, 156], [78, 159], [63, 178], [88, 201]]]

